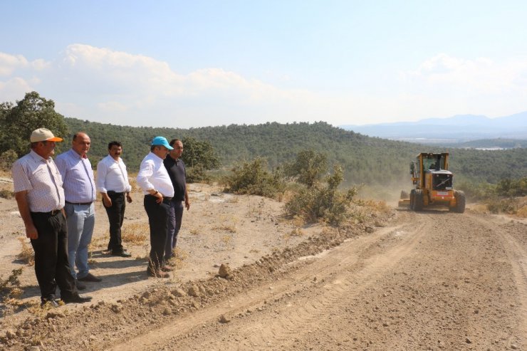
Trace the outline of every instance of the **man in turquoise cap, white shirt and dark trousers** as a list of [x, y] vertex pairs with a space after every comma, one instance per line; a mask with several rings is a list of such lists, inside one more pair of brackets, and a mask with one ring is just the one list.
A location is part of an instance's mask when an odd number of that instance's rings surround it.
[[149, 276], [168, 278], [168, 271], [174, 268], [165, 263], [165, 241], [168, 235], [170, 201], [174, 197], [174, 187], [163, 164], [169, 150], [173, 150], [165, 137], [155, 137], [150, 153], [142, 160], [137, 185], [145, 194], [144, 204], [150, 224]]

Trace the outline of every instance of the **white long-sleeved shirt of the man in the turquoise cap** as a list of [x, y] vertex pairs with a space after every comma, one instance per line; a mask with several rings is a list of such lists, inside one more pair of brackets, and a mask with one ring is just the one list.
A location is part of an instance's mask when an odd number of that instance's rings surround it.
[[137, 185], [143, 194], [150, 194], [148, 190], [157, 190], [163, 197], [174, 197], [174, 187], [163, 164], [163, 159], [150, 152], [141, 161], [137, 173]]

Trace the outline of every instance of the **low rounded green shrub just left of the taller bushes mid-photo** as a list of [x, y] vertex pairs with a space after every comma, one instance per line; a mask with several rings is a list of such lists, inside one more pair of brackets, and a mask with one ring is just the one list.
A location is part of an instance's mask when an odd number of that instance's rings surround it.
[[231, 169], [231, 174], [224, 179], [227, 192], [236, 194], [260, 195], [262, 197], [277, 197], [283, 193], [285, 182], [279, 169], [267, 171], [267, 162], [257, 157], [252, 162], [237, 164]]

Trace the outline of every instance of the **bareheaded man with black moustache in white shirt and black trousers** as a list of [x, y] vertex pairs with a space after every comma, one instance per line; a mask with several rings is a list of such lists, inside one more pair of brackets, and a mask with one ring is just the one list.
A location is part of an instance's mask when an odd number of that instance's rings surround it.
[[103, 205], [110, 221], [108, 251], [111, 251], [112, 256], [130, 257], [132, 254], [122, 247], [121, 227], [125, 219], [125, 196], [128, 202], [132, 202], [130, 197], [132, 187], [128, 182], [128, 174], [125, 162], [122, 162], [120, 157], [121, 154], [120, 142], [113, 141], [108, 144], [108, 156], [97, 164], [95, 185], [103, 196]]

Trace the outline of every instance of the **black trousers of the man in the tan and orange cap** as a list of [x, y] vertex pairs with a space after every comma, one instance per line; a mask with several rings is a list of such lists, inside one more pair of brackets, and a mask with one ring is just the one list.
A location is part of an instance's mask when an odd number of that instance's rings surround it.
[[66, 218], [62, 212], [55, 215], [31, 212], [31, 219], [38, 233], [37, 239], [31, 239], [31, 246], [35, 251], [35, 274], [41, 299], [55, 298], [57, 285], [61, 298], [71, 298], [78, 292], [68, 263]]

